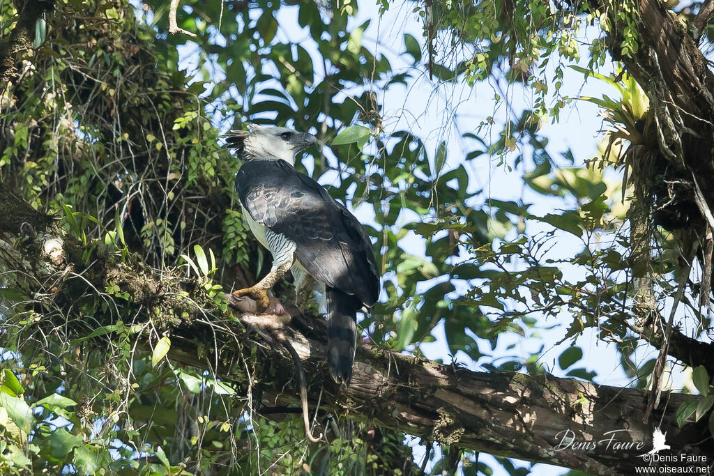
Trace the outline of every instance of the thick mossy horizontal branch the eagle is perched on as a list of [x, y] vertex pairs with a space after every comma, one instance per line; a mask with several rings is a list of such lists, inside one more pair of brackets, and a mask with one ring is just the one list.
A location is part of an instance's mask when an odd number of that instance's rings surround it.
[[[33, 223], [43, 220], [36, 217]], [[17, 236], [17, 231], [0, 233]], [[68, 237], [61, 242], [79, 245]], [[220, 312], [195, 280], [124, 264], [119, 253], [94, 249], [89, 256], [67, 252], [57, 259], [37, 245], [19, 248], [25, 263], [44, 263], [9, 273], [9, 285], [21, 284], [34, 296], [24, 304], [41, 315], [32, 326], [61, 329], [69, 343], [121, 320], [149, 330], [135, 334], [140, 347], [149, 350], [159, 335], [169, 335], [174, 362], [209, 370], [268, 407], [298, 405], [293, 359], [271, 337], [278, 330], [303, 359], [308, 403], [318, 415], [329, 412], [444, 445], [597, 474], [632, 472], [637, 455], [651, 447], [653, 426], [641, 421], [641, 390], [551, 375], [472, 372], [368, 345], [358, 348], [351, 385], [338, 387], [326, 370], [320, 321], [254, 315], [247, 302], [240, 304], [244, 312]], [[28, 279], [28, 273], [40, 273], [36, 270], [45, 274]], [[92, 321], [81, 315], [87, 306], [95, 310]], [[99, 338], [111, 338], [111, 332]], [[674, 452], [714, 457], [710, 446], [700, 443], [703, 428], [690, 423], [680, 430], [673, 422], [674, 410], [692, 398], [669, 395], [654, 420], [665, 412], [662, 427]], [[597, 450], [584, 451], [587, 442], [595, 442]]]

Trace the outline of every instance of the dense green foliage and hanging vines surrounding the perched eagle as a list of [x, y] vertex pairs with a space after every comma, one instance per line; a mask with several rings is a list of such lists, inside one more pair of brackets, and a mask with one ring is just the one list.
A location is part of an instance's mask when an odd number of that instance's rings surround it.
[[[320, 146], [298, 167], [367, 217], [383, 275], [381, 300], [361, 321], [373, 345], [418, 355], [443, 326], [448, 352], [482, 368], [592, 381], [592, 369], [576, 365], [588, 356], [575, 340], [594, 328], [645, 388], [655, 358], [633, 357], [648, 347], [642, 334], [681, 305], [685, 333], [705, 339], [710, 289], [679, 286], [704, 227], [693, 199], [678, 193], [681, 174], [658, 153], [648, 97], [620, 64], [616, 77], [597, 74], [608, 49], [619, 60], [639, 48], [635, 6], [620, 3], [616, 15], [607, 5], [540, 1], [414, 4], [427, 46], [403, 36], [407, 69], [367, 46], [369, 21], [353, 24], [354, 1], [186, 1], [178, 26], [193, 39], [168, 33], [165, 1], [53, 4], [32, 22], [31, 44], [14, 52], [15, 71], [0, 84], [0, 193], [51, 215], [26, 233], [64, 236], [69, 258], [36, 270], [23, 258], [24, 238], [3, 230], [0, 473], [416, 470], [402, 432], [346, 415], [332, 420], [329, 442], [308, 442], [296, 415], [263, 412], [251, 393], [253, 380], [271, 378], [270, 364], [220, 352], [243, 330], [223, 292], [253, 282], [269, 260], [241, 221], [232, 190], [239, 164], [221, 148], [221, 133], [246, 123], [315, 133]], [[0, 29], [3, 41], [23, 46], [11, 35], [21, 4], [36, 5], [0, 0]], [[681, 16], [693, 18], [691, 10]], [[603, 36], [583, 49], [586, 24]], [[290, 41], [285, 29], [304, 37]], [[188, 72], [178, 51], [191, 51]], [[583, 80], [608, 82], [620, 96], [581, 99], [603, 108], [615, 129], [595, 158], [555, 156], [540, 124], [573, 101], [560, 94], [563, 71], [585, 51], [588, 68], [575, 66]], [[7, 46], [0, 52], [9, 55]], [[391, 130], [383, 95], [425, 71], [451, 83], [496, 81], [508, 119], [472, 124], [464, 135], [472, 150], [459, 159], [446, 142], [432, 151], [426, 138]], [[501, 97], [514, 90], [531, 91], [533, 101]], [[488, 143], [493, 131], [498, 139]], [[471, 173], [485, 158], [557, 209], [537, 216], [531, 203], [489, 196]], [[606, 179], [613, 169], [624, 179]], [[564, 236], [575, 253], [558, 248]], [[710, 258], [698, 256], [710, 273]], [[276, 291], [291, 299], [288, 285]], [[559, 369], [543, 367], [543, 349], [526, 359], [493, 352], [514, 334], [537, 337], [563, 313], [568, 325], [557, 331], [573, 346]], [[181, 334], [191, 320], [216, 334]], [[167, 358], [189, 340], [197, 357]], [[216, 368], [245, 373], [224, 382], [203, 370], [196, 360], [206, 347], [223, 359]], [[695, 388], [707, 395], [714, 369], [693, 367]], [[680, 408], [678, 422], [703, 421], [713, 403]], [[436, 443], [443, 452], [433, 455], [433, 474], [453, 457], [466, 474], [491, 472], [473, 452], [450, 455], [451, 441]]]

